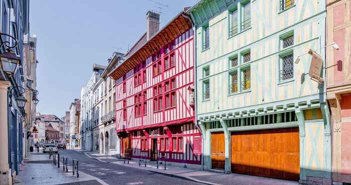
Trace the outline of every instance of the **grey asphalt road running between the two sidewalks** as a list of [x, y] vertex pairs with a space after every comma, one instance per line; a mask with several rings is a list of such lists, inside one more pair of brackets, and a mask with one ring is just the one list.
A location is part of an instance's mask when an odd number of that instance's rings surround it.
[[103, 163], [74, 150], [59, 150], [61, 156], [68, 157], [68, 164], [72, 165], [72, 158], [79, 160], [79, 171], [100, 178], [109, 185], [115, 184], [202, 184], [182, 178], [155, 173], [148, 170], [136, 169], [114, 163]]

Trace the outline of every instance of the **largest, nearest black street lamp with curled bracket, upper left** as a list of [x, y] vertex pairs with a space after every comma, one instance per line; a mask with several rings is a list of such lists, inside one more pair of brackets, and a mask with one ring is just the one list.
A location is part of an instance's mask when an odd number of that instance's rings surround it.
[[6, 33], [0, 33], [0, 35], [6, 35], [6, 36], [9, 36], [15, 40], [15, 44], [12, 46], [8, 45], [8, 44], [10, 44], [9, 41], [4, 41], [0, 45], [0, 48], [3, 47], [3, 45], [6, 45], [8, 47], [7, 51], [0, 54], [0, 61], [1, 61], [0, 63], [1, 63], [1, 66], [3, 68], [3, 71], [5, 73], [7, 73], [9, 76], [11, 76], [11, 75], [16, 73], [16, 70], [17, 70], [17, 68], [20, 64], [20, 61], [21, 61], [21, 58], [19, 56], [17, 56], [13, 52], [13, 50], [11, 49], [11, 48], [17, 47], [17, 40], [15, 37], [13, 37], [9, 34], [6, 34]]

